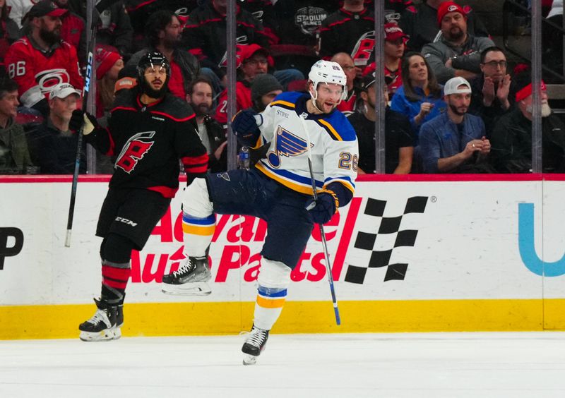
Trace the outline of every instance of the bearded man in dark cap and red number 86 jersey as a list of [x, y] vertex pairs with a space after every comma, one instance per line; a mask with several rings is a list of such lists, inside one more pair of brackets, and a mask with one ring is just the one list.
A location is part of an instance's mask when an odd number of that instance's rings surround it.
[[49, 113], [47, 97], [54, 85], [84, 85], [76, 49], [61, 40], [61, 16], [66, 12], [49, 0], [35, 4], [27, 14], [30, 33], [6, 53], [6, 66], [10, 78], [18, 83], [20, 102], [44, 116]]

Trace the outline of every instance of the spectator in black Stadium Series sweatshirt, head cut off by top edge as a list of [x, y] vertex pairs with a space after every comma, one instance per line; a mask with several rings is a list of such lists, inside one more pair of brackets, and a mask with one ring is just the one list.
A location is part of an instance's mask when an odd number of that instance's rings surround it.
[[338, 11], [339, 1], [285, 0], [277, 1], [273, 8], [279, 37], [278, 44], [270, 47], [275, 65], [296, 68], [306, 75], [318, 61], [316, 32], [330, 13]]

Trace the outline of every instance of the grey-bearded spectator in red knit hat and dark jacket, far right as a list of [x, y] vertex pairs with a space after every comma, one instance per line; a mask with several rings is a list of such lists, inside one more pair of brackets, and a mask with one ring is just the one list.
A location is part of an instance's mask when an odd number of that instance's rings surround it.
[[[532, 171], [532, 79], [530, 72], [515, 76], [516, 104], [492, 131], [492, 164], [501, 173]], [[565, 125], [552, 114], [545, 83], [541, 85], [542, 171], [565, 172]]]

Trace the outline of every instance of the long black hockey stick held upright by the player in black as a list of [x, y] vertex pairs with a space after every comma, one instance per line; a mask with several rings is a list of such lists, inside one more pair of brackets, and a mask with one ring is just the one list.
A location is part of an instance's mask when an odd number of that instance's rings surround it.
[[[90, 3], [90, 1], [89, 1]], [[92, 3], [94, 5], [94, 3]], [[86, 56], [86, 73], [84, 79], [84, 95], [83, 95], [83, 109], [85, 109], [86, 104], [88, 104], [88, 93], [90, 92], [90, 81], [92, 80], [93, 62], [94, 62], [94, 47], [96, 44], [96, 27], [97, 27], [97, 17], [100, 15], [96, 8], [92, 9], [93, 19], [90, 23], [90, 37], [87, 37], [87, 49], [88, 53]], [[81, 152], [83, 149], [83, 129], [84, 123], [81, 128], [78, 129], [78, 142], [76, 144], [76, 159], [75, 159], [75, 170], [73, 173], [73, 183], [71, 185], [71, 203], [69, 203], [69, 217], [66, 220], [66, 238], [65, 247], [71, 247], [71, 231], [73, 229], [73, 217], [75, 213], [75, 202], [76, 202], [76, 188], [78, 185], [78, 171], [81, 167]]]

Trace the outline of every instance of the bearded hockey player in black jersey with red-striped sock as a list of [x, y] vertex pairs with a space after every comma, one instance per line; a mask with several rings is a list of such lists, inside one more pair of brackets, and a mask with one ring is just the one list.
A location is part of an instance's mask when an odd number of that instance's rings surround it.
[[167, 212], [179, 188], [179, 159], [189, 183], [208, 167], [194, 111], [168, 92], [170, 66], [165, 56], [146, 54], [137, 71], [138, 85], [119, 92], [108, 128], [97, 126], [96, 119], [83, 111], [75, 111], [71, 119], [71, 129], [84, 123], [88, 143], [116, 157], [96, 228], [103, 239], [102, 292], [95, 299], [96, 313], [78, 327], [84, 341], [121, 336], [131, 251], [143, 249]]

